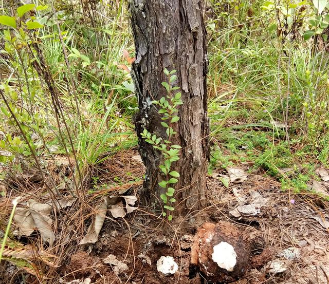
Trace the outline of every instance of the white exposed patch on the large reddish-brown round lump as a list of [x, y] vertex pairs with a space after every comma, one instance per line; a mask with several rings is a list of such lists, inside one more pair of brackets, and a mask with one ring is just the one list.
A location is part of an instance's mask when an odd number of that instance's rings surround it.
[[233, 271], [236, 264], [236, 252], [229, 243], [222, 241], [213, 247], [214, 252], [211, 259], [217, 263], [220, 268], [227, 271]]

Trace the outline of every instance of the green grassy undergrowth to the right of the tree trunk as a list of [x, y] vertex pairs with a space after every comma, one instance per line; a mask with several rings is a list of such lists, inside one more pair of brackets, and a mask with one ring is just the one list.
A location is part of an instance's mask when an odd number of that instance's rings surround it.
[[212, 5], [210, 172], [246, 164], [283, 190], [309, 189], [316, 168], [328, 166], [327, 8], [318, 1]]

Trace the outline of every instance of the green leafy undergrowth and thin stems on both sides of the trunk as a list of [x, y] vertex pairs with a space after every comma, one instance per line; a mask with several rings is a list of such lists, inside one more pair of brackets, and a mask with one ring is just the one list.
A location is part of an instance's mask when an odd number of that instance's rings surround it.
[[[66, 188], [83, 199], [104, 188], [104, 161], [137, 145], [129, 15], [123, 0], [32, 3], [2, 2], [0, 196]], [[329, 167], [327, 6], [207, 2], [209, 174], [245, 166], [303, 193]]]

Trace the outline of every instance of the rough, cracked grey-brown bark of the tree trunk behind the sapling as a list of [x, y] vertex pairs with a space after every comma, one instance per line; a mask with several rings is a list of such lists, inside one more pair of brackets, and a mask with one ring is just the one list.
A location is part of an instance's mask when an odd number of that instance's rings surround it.
[[[132, 77], [136, 86], [139, 113], [135, 129], [139, 152], [147, 168], [144, 181], [146, 197], [155, 203], [163, 191], [158, 166], [161, 155], [140, 137], [143, 129], [166, 138], [165, 128], [152, 100], [166, 95], [161, 82], [163, 69], [177, 70], [175, 86], [180, 87], [184, 104], [175, 131], [175, 144], [182, 146], [180, 160], [174, 163], [180, 173], [176, 184], [178, 201], [185, 208], [197, 209], [205, 202], [207, 163], [209, 160], [209, 119], [207, 117], [207, 49], [200, 0], [130, 0], [131, 25], [136, 47]], [[177, 197], [176, 197], [177, 199]]]

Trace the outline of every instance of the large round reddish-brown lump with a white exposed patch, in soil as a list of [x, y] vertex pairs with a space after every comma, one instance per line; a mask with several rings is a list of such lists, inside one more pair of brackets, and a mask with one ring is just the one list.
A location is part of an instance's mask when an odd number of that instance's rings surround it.
[[191, 247], [191, 267], [210, 282], [233, 282], [242, 277], [250, 259], [246, 234], [228, 222], [204, 223]]

